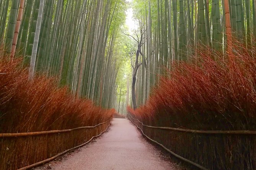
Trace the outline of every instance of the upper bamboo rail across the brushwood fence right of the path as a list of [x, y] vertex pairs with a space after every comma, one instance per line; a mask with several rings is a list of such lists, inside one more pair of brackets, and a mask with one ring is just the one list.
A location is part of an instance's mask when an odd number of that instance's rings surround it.
[[[130, 113], [128, 112], [128, 115]], [[132, 115], [130, 115], [132, 117]], [[132, 117], [132, 119], [134, 119]], [[140, 122], [138, 119], [134, 119]], [[142, 126], [149, 127], [149, 128], [156, 128], [156, 129], [165, 129], [165, 130], [174, 130], [180, 132], [189, 132], [189, 133], [203, 133], [203, 134], [227, 134], [227, 135], [256, 135], [256, 131], [251, 130], [192, 130], [192, 129], [183, 129], [183, 128], [171, 128], [171, 127], [155, 127], [155, 126], [148, 126], [144, 125], [140, 122]]]

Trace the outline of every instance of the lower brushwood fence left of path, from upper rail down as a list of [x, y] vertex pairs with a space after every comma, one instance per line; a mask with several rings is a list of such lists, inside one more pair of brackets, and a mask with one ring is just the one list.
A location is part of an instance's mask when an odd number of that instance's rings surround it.
[[101, 135], [110, 121], [67, 130], [0, 133], [0, 170], [24, 170], [49, 162]]

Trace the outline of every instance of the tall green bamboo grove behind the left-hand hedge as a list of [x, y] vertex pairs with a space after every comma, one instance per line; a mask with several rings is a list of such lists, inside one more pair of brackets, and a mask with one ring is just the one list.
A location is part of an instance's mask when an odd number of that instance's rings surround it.
[[24, 56], [24, 66], [110, 108], [120, 64], [113, 50], [126, 8], [122, 0], [0, 0], [1, 43], [8, 55], [15, 48]]

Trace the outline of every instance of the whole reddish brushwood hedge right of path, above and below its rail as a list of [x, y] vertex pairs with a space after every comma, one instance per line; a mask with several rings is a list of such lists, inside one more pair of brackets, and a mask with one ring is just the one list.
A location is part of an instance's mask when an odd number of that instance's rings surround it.
[[[145, 106], [128, 108], [143, 123], [195, 130], [256, 130], [256, 50], [198, 50], [196, 64], [173, 64]], [[212, 58], [217, 58], [214, 61]], [[143, 128], [147, 135], [200, 165], [256, 169], [256, 136], [194, 135]]]

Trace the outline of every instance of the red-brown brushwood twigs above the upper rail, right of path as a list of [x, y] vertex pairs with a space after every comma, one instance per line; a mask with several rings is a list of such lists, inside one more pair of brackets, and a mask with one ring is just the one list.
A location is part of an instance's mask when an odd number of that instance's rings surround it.
[[177, 67], [174, 63], [169, 77], [161, 77], [147, 104], [128, 111], [172, 127], [255, 129], [256, 51], [242, 47], [234, 51], [229, 59], [215, 51], [199, 51], [197, 64], [179, 63]]

